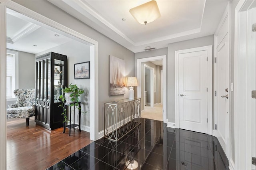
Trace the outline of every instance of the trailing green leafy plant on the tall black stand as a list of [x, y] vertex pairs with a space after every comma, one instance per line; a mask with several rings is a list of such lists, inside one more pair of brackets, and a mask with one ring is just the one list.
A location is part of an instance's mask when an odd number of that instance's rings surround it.
[[[69, 87], [65, 87], [65, 89], [63, 89], [63, 93], [71, 93], [69, 96], [71, 97], [71, 101], [72, 102], [74, 102], [74, 103], [72, 103], [71, 105], [70, 105], [70, 107], [72, 107], [72, 106], [76, 106], [76, 108], [77, 109], [79, 109], [80, 111], [81, 111], [81, 107], [79, 107], [79, 104], [78, 104], [78, 102], [79, 102], [79, 98], [78, 97], [80, 97], [80, 95], [82, 95], [83, 93], [84, 93], [84, 90], [83, 89], [79, 89], [78, 87], [77, 87], [77, 85], [72, 85], [72, 83], [69, 85]], [[65, 97], [64, 97], [64, 95], [60, 95], [60, 99], [61, 99], [61, 101], [62, 101], [62, 104], [60, 104], [58, 107], [62, 107], [63, 108], [63, 113], [61, 114], [61, 115], [63, 115], [64, 116], [64, 121], [63, 121], [63, 123], [64, 122], [66, 122], [66, 123], [68, 123], [68, 117], [67, 117], [67, 115], [66, 115], [66, 109], [64, 108], [64, 103], [65, 103], [65, 101], [66, 101], [66, 99], [65, 99]], [[75, 108], [75, 109], [76, 109]], [[87, 113], [87, 111], [86, 112], [82, 112], [81, 111], [81, 113], [84, 115], [84, 113]]]

